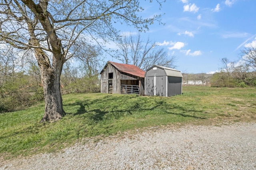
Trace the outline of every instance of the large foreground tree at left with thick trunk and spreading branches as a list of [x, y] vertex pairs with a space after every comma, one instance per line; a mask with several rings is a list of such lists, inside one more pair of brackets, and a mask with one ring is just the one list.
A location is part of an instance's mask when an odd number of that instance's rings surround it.
[[[3, 0], [0, 3], [0, 41], [18, 49], [33, 49], [41, 71], [45, 111], [40, 122], [64, 116], [60, 93], [63, 64], [71, 47], [84, 41], [114, 39], [116, 22], [148, 29], [160, 16], [142, 18], [139, 0]], [[90, 37], [90, 38], [89, 38]]]

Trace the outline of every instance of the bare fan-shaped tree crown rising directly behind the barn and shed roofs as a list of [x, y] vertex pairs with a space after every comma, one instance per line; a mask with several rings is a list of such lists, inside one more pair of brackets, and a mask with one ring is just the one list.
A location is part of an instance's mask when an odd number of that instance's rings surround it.
[[124, 36], [118, 41], [118, 59], [125, 64], [133, 64], [146, 70], [150, 66], [161, 65], [175, 68], [176, 56], [169, 55], [163, 48], [158, 48], [156, 42], [148, 38], [144, 41], [140, 33], [138, 35]]

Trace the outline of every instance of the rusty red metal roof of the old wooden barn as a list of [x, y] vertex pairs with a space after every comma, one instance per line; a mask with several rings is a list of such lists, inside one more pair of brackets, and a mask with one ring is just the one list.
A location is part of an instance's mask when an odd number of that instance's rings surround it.
[[[108, 63], [112, 64], [117, 70], [119, 70], [121, 72], [132, 74], [132, 75], [138, 76], [138, 77], [144, 77], [144, 75], [145, 75], [145, 71], [143, 71], [142, 69], [138, 68], [135, 65], [120, 64], [120, 63], [115, 63], [112, 61], [108, 61]], [[108, 65], [108, 63], [106, 64], [106, 66]], [[104, 68], [106, 68], [106, 66]], [[103, 71], [104, 71], [104, 69], [100, 72], [100, 74]]]

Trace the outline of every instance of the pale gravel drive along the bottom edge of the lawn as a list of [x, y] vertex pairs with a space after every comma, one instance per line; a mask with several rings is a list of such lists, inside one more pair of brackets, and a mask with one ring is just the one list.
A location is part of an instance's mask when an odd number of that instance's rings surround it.
[[256, 170], [256, 123], [152, 127], [83, 139], [58, 153], [0, 162], [0, 170]]

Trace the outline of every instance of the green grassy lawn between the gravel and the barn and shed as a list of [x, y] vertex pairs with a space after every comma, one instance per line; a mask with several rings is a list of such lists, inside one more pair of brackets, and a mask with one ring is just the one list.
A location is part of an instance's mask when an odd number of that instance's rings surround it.
[[256, 88], [183, 87], [173, 97], [119, 94], [63, 96], [66, 116], [38, 123], [44, 102], [0, 114], [0, 157], [53, 152], [84, 137], [162, 125], [218, 125], [256, 121]]

